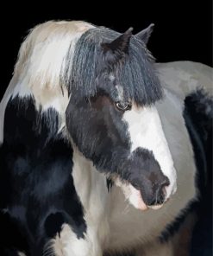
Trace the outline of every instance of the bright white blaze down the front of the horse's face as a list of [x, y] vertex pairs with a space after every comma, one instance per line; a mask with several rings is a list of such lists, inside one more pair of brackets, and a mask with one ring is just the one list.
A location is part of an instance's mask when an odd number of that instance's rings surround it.
[[163, 174], [168, 177], [170, 185], [166, 187], [166, 199], [169, 198], [176, 191], [176, 170], [156, 107], [138, 108], [133, 104], [132, 109], [123, 114], [123, 120], [128, 124], [131, 151], [138, 147], [152, 151]]

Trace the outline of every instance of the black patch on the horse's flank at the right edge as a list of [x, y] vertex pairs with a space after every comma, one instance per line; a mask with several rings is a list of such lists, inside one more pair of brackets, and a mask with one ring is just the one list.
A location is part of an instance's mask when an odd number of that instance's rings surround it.
[[[185, 98], [183, 112], [185, 125], [191, 138], [197, 167], [196, 186], [198, 200], [192, 200], [179, 216], [162, 233], [160, 240], [169, 240], [179, 231], [187, 214], [196, 211], [197, 226], [192, 235], [191, 255], [201, 255], [211, 248], [212, 240], [212, 124], [213, 99], [204, 90], [199, 89]], [[208, 221], [207, 221], [208, 220]], [[197, 244], [199, 250], [197, 251]], [[203, 244], [203, 246], [202, 246]], [[203, 251], [202, 251], [203, 250]], [[212, 248], [211, 248], [212, 250]]]

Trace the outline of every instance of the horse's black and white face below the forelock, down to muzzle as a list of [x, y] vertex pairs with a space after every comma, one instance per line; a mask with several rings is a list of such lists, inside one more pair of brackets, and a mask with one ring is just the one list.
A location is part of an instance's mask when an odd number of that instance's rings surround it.
[[122, 98], [122, 87], [109, 81], [107, 90], [89, 99], [74, 93], [66, 110], [68, 131], [136, 208], [161, 205], [174, 192], [176, 176], [159, 114], [155, 106]]

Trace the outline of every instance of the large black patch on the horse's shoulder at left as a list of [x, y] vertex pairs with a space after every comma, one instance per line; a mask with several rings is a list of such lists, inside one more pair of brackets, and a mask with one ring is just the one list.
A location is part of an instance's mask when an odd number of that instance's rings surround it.
[[[9, 247], [30, 255], [42, 255], [62, 223], [78, 238], [86, 232], [71, 175], [72, 147], [58, 130], [59, 117], [53, 109], [36, 111], [32, 98], [9, 100], [0, 148], [0, 209], [6, 209], [9, 222], [1, 231], [7, 234]], [[10, 235], [14, 231], [22, 234], [22, 240]]]

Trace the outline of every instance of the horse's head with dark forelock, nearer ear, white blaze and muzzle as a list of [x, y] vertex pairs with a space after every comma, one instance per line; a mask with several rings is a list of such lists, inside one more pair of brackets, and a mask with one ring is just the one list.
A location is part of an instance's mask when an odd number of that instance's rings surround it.
[[[159, 80], [147, 52], [137, 52], [144, 45], [134, 39], [128, 48], [129, 33], [75, 63], [86, 64], [73, 72], [66, 126], [78, 150], [122, 188], [135, 208], [158, 208], [174, 193], [176, 173], [154, 106], [161, 97]], [[88, 82], [88, 76], [94, 79]]]

